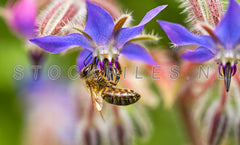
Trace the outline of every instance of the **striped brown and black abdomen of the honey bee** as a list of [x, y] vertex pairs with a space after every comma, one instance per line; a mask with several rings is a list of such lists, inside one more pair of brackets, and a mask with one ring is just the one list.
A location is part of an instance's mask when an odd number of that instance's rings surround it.
[[137, 92], [116, 87], [104, 88], [102, 91], [102, 97], [108, 103], [115, 105], [129, 105], [140, 99], [140, 95]]

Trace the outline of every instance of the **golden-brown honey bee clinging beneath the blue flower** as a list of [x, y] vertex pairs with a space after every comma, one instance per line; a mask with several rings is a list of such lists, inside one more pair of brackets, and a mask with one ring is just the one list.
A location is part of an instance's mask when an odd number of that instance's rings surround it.
[[[116, 70], [117, 75], [121, 70]], [[96, 69], [96, 59], [89, 63], [80, 73], [80, 77], [85, 79], [86, 85], [91, 93], [92, 100], [97, 111], [102, 110], [103, 100], [114, 105], [129, 105], [137, 102], [140, 95], [129, 89], [116, 87], [119, 77], [108, 80], [103, 70]]]

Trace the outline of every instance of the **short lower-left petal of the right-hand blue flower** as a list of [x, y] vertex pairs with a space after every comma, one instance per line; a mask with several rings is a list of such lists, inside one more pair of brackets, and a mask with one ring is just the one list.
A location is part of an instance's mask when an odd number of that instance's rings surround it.
[[207, 48], [198, 47], [195, 50], [187, 50], [181, 58], [192, 62], [205, 62], [214, 57], [214, 54]]

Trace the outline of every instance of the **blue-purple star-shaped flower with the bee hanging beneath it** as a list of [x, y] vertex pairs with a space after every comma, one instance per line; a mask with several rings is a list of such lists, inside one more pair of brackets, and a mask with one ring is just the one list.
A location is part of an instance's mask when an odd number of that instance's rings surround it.
[[144, 25], [165, 7], [166, 5], [152, 9], [136, 26], [121, 28], [119, 23], [114, 24], [113, 18], [106, 10], [87, 1], [87, 22], [85, 29], [80, 31], [81, 33], [72, 33], [66, 36], [49, 35], [33, 38], [30, 41], [50, 53], [59, 53], [73, 46], [83, 47], [84, 49], [78, 57], [80, 70], [96, 57], [101, 68], [103, 68], [105, 59], [110, 65], [117, 65], [120, 53], [129, 59], [156, 64], [142, 46], [132, 43], [131, 40], [140, 35]]

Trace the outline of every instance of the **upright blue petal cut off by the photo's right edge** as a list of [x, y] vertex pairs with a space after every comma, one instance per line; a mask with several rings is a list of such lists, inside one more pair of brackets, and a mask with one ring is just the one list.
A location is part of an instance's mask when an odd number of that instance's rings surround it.
[[217, 25], [215, 34], [226, 48], [234, 48], [240, 40], [240, 6], [235, 0], [230, 0], [227, 12]]

